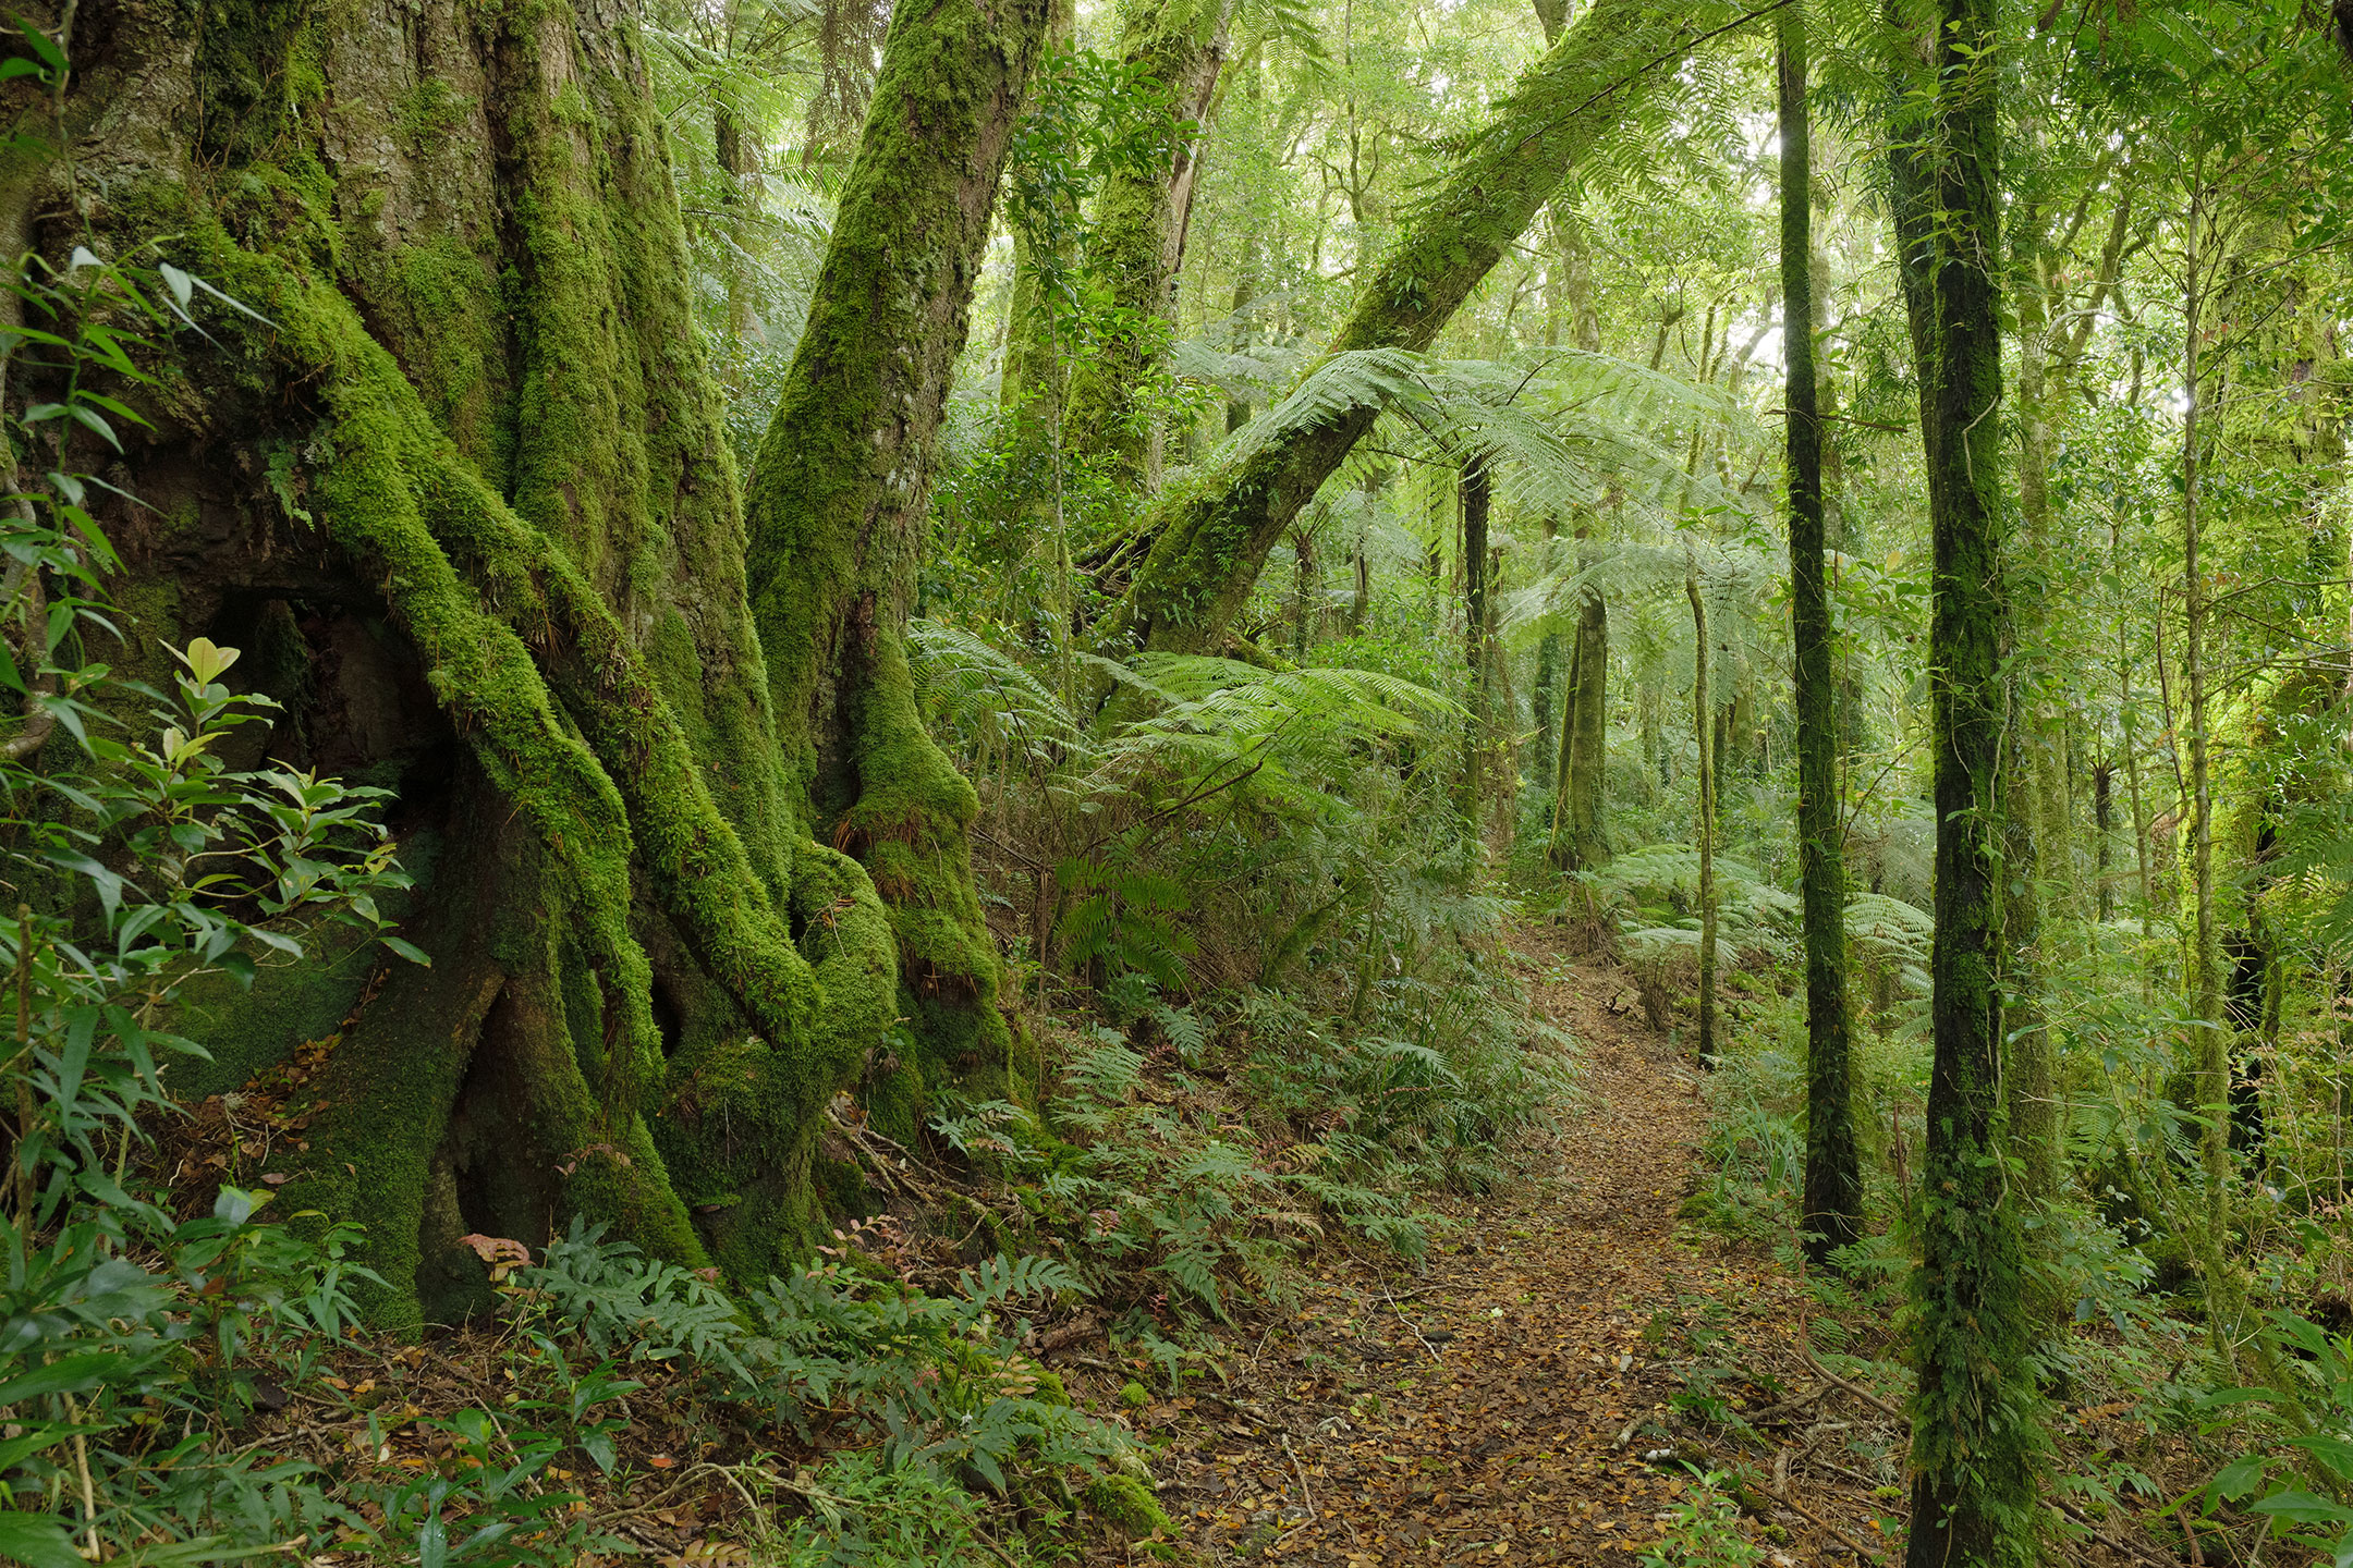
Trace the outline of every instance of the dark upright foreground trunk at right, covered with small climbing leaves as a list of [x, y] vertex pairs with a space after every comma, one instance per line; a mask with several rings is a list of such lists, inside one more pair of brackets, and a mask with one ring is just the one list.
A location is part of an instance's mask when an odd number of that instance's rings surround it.
[[[1894, 9], [1894, 7], [1892, 7]], [[1901, 12], [1899, 12], [1899, 24]], [[1925, 122], [1889, 150], [1899, 273], [1920, 376], [1934, 609], [1934, 1065], [1913, 1274], [1913, 1500], [1906, 1561], [2035, 1561], [2035, 1392], [2026, 1255], [2002, 1138], [2000, 752], [2002, 336], [1993, 259], [1998, 68], [1991, 0], [1944, 0]], [[1920, 38], [1920, 28], [1899, 26]], [[1899, 82], [1908, 80], [1899, 73]], [[1908, 120], [1908, 115], [1906, 115]]]

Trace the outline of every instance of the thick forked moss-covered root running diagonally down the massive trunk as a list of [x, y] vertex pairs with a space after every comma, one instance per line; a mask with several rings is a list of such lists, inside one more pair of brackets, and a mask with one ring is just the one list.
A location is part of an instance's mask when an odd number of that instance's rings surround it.
[[[576, 924], [600, 971], [619, 976], [609, 985], [626, 1009], [619, 1039], [633, 1041], [638, 1063], [614, 1079], [624, 1107], [654, 1112], [640, 1086], [664, 1074], [649, 969], [628, 931], [633, 865], [696, 966], [751, 1025], [727, 1046], [741, 1126], [701, 1138], [706, 1100], [678, 1093], [659, 1107], [659, 1126], [680, 1178], [701, 1178], [692, 1197], [725, 1204], [725, 1229], [741, 1237], [720, 1248], [722, 1262], [776, 1267], [779, 1239], [805, 1220], [802, 1178], [824, 1103], [892, 1018], [894, 954], [871, 884], [807, 846], [791, 891], [809, 882], [824, 903], [795, 943], [652, 670], [579, 567], [456, 456], [381, 348], [344, 320], [339, 294], [292, 284], [268, 299], [294, 327], [285, 348], [327, 369], [320, 442], [332, 458], [313, 480], [320, 524], [393, 583], [391, 607], [426, 651], [428, 679], [579, 893]], [[708, 1060], [682, 1072], [708, 1088]]]

